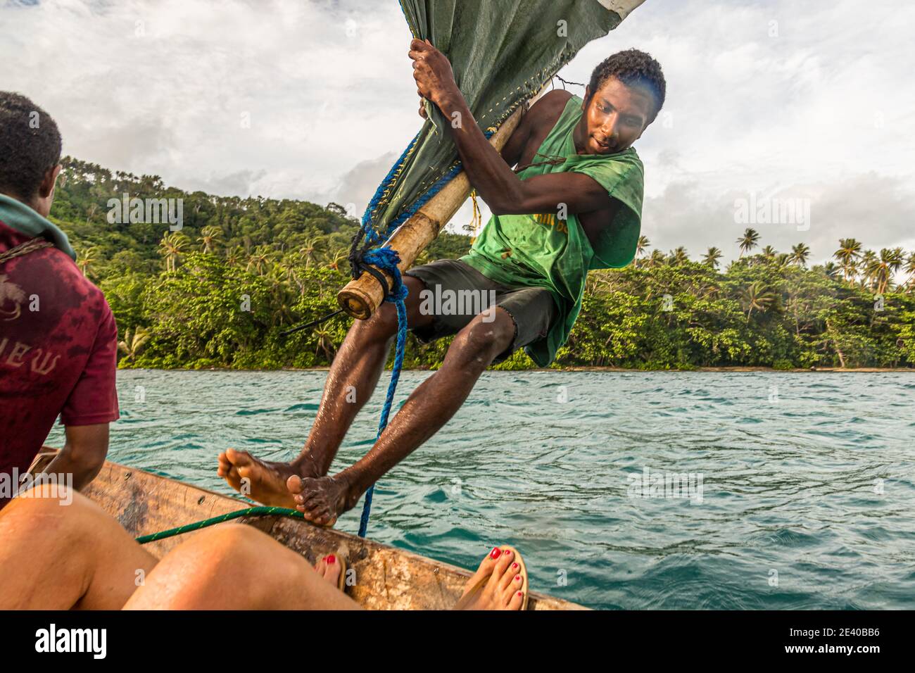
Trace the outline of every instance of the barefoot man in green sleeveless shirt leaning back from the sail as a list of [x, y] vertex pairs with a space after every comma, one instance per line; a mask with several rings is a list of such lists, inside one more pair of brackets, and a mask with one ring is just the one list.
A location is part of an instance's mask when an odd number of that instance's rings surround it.
[[446, 127], [463, 168], [493, 215], [467, 255], [404, 273], [407, 326], [416, 338], [456, 336], [441, 368], [416, 387], [360, 461], [328, 476], [387, 361], [397, 331], [390, 302], [354, 321], [295, 461], [221, 453], [219, 474], [236, 489], [267, 505], [296, 507], [320, 525], [355, 506], [444, 426], [490, 364], [519, 348], [540, 366], [552, 363], [581, 310], [587, 272], [628, 265], [639, 240], [643, 168], [631, 146], [657, 117], [666, 87], [651, 56], [613, 54], [592, 73], [584, 99], [545, 94], [501, 153], [479, 129], [446, 56], [418, 39], [409, 56], [424, 99], [420, 114], [429, 101], [452, 121]]

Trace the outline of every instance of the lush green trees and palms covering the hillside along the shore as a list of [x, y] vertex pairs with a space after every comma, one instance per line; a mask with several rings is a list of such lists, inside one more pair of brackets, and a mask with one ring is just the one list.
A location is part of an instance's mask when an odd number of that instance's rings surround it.
[[[218, 197], [112, 172], [72, 157], [51, 211], [77, 264], [102, 288], [118, 323], [121, 367], [307, 369], [328, 366], [351, 319], [280, 332], [338, 308], [359, 223], [339, 204]], [[180, 200], [182, 223], [112, 217], [112, 200]], [[416, 260], [464, 255], [469, 235], [442, 233]], [[591, 271], [556, 369], [906, 369], [915, 367], [915, 253], [836, 242], [833, 260], [780, 252], [747, 229], [723, 266], [713, 247], [652, 249], [633, 264]], [[408, 335], [404, 368], [436, 369], [450, 338]], [[393, 354], [392, 354], [393, 357]], [[390, 364], [390, 363], [389, 363]], [[537, 369], [519, 351], [495, 369]]]

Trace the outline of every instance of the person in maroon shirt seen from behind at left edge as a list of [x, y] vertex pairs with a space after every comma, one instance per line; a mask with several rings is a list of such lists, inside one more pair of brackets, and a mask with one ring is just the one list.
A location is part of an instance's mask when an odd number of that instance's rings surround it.
[[49, 474], [80, 489], [118, 418], [117, 328], [102, 291], [48, 222], [61, 140], [48, 114], [0, 92], [0, 508], [60, 416], [66, 443]]

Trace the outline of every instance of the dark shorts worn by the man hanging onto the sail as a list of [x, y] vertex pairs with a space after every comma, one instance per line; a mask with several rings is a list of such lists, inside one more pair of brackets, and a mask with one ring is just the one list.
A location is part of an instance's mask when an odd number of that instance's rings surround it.
[[543, 339], [559, 313], [548, 289], [502, 285], [459, 259], [437, 259], [430, 264], [414, 266], [404, 271], [404, 275], [419, 278], [430, 291], [425, 297], [429, 299], [427, 307], [433, 315], [432, 323], [412, 330], [422, 343], [457, 334], [475, 315], [492, 304], [508, 311], [514, 322], [514, 339], [511, 346], [492, 361], [493, 364], [508, 359], [519, 348]]

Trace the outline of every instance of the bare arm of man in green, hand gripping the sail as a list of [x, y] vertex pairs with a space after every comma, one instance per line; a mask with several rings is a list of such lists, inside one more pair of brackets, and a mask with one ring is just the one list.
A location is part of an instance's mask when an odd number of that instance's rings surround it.
[[[414, 79], [419, 95], [435, 103], [448, 119], [457, 118], [451, 135], [464, 164], [470, 184], [497, 214], [554, 212], [565, 203], [570, 214], [599, 211], [611, 206], [611, 199], [597, 180], [577, 173], [552, 173], [522, 180], [479, 130], [467, 101], [458, 90], [451, 64], [428, 42], [414, 39], [410, 44]], [[530, 127], [528, 129], [530, 133]], [[526, 138], [525, 138], [526, 140]], [[514, 150], [521, 154], [520, 149]]]

